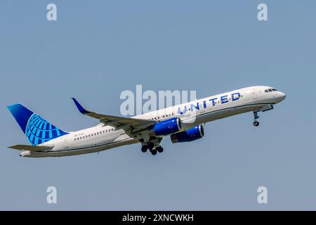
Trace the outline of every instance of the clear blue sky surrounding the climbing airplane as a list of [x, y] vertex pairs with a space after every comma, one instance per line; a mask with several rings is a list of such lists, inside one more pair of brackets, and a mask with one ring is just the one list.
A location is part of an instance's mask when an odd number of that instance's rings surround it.
[[[58, 21], [46, 20], [46, 5]], [[268, 21], [257, 20], [259, 3]], [[315, 1], [0, 1], [0, 210], [316, 210]], [[211, 96], [271, 85], [287, 94], [261, 126], [247, 113], [206, 124], [203, 139], [143, 154], [20, 158], [27, 139], [6, 105], [66, 131], [119, 115], [124, 90]], [[58, 204], [46, 203], [56, 186]], [[258, 186], [268, 204], [257, 203]]]

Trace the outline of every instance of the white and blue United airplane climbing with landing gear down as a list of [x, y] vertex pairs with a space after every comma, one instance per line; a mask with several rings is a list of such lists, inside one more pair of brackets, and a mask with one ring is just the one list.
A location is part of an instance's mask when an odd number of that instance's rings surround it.
[[72, 98], [80, 113], [100, 121], [95, 127], [66, 132], [33, 113], [21, 103], [8, 105], [20, 128], [32, 145], [13, 145], [27, 158], [61, 157], [98, 153], [102, 150], [140, 143], [141, 150], [152, 155], [162, 153], [160, 142], [170, 136], [172, 143], [201, 139], [206, 122], [240, 113], [253, 112], [258, 127], [258, 113], [272, 110], [286, 95], [272, 86], [249, 86], [216, 96], [201, 98], [134, 117], [103, 115], [86, 110]]

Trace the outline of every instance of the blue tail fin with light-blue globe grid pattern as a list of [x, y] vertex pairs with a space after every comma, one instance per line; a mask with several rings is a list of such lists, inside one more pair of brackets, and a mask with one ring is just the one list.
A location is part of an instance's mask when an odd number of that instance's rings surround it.
[[27, 139], [34, 146], [68, 134], [20, 103], [8, 105], [8, 110], [10, 110], [16, 122], [18, 122], [22, 131], [27, 136]]

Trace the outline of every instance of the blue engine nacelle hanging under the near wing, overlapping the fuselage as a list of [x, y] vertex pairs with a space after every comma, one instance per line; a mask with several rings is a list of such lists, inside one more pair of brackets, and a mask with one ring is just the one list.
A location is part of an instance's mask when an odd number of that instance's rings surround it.
[[154, 127], [150, 129], [150, 134], [155, 136], [162, 136], [173, 134], [181, 129], [181, 120], [178, 117], [171, 118], [169, 120], [163, 120], [154, 124]]

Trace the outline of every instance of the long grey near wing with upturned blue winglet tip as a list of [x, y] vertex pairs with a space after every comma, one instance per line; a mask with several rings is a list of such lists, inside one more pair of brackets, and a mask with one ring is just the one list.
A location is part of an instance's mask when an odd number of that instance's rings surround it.
[[100, 120], [100, 122], [103, 123], [103, 126], [112, 126], [112, 127], [115, 127], [116, 129], [124, 129], [125, 131], [133, 133], [135, 131], [147, 129], [148, 127], [151, 127], [152, 125], [157, 123], [156, 121], [153, 121], [153, 120], [142, 120], [142, 119], [135, 119], [135, 118], [130, 118], [130, 117], [118, 117], [114, 115], [104, 115], [104, 114], [94, 113], [94, 112], [86, 110], [77, 101], [76, 98], [72, 98], [72, 100], [76, 104], [80, 113]]

